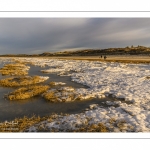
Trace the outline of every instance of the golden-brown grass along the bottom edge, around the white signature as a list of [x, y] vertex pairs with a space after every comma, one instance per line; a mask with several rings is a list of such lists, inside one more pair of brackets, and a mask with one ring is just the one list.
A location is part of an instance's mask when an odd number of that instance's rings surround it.
[[[66, 116], [65, 114], [62, 114]], [[39, 116], [32, 116], [23, 118], [16, 118], [11, 122], [2, 122], [0, 123], [0, 132], [26, 132], [29, 131], [30, 127], [35, 127], [36, 130], [32, 130], [30, 132], [109, 132], [107, 127], [103, 123], [97, 124], [82, 124], [77, 129], [59, 129], [59, 128], [52, 128], [48, 129], [45, 123], [42, 121], [46, 121], [46, 123], [54, 122], [59, 118], [57, 114], [52, 114], [50, 116], [39, 117]], [[63, 123], [63, 122], [62, 122]], [[61, 124], [60, 124], [61, 125]]]

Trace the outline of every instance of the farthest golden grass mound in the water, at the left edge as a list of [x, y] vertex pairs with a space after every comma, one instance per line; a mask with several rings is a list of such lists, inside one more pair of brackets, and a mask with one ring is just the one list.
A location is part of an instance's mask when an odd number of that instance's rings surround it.
[[27, 75], [29, 66], [21, 63], [6, 64], [0, 69], [2, 75]]

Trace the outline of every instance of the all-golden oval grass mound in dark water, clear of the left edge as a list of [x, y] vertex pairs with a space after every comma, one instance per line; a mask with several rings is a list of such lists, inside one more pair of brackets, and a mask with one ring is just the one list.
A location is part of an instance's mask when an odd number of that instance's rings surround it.
[[8, 94], [9, 100], [28, 99], [33, 96], [40, 95], [49, 89], [48, 85], [33, 85], [30, 87], [22, 87]]

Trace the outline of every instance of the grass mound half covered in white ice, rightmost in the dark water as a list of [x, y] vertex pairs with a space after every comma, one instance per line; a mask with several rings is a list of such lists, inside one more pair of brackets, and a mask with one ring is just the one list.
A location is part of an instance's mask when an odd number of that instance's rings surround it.
[[51, 102], [66, 102], [78, 99], [78, 96], [73, 87], [61, 87], [58, 89], [51, 89], [43, 94], [46, 100]]

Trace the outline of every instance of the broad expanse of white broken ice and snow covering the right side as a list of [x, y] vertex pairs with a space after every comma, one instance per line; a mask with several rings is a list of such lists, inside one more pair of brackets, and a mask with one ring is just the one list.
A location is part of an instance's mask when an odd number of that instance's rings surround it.
[[[1, 58], [2, 59], [2, 58]], [[88, 97], [123, 98], [128, 103], [109, 102], [109, 107], [95, 106], [84, 113], [57, 116], [53, 122], [45, 121], [28, 131], [36, 131], [38, 126], [51, 131], [77, 129], [83, 124], [103, 122], [111, 132], [149, 132], [150, 131], [150, 65], [124, 64], [98, 61], [58, 60], [20, 58], [45, 67], [45, 72], [57, 72], [71, 76], [72, 81], [87, 85], [88, 89], [77, 89], [83, 99]], [[5, 60], [6, 61], [6, 60]], [[42, 71], [44, 68], [41, 69]], [[118, 106], [113, 105], [117, 103]], [[90, 121], [89, 121], [90, 119]]]

